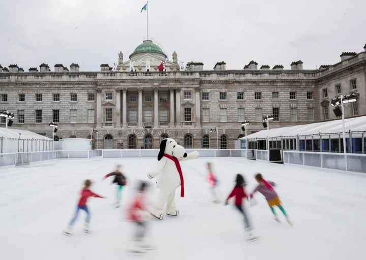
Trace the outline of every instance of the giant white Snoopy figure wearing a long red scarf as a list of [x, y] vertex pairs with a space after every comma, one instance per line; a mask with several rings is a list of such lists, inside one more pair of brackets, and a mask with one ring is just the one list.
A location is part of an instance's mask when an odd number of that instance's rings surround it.
[[[184, 147], [178, 145], [174, 139], [163, 139], [160, 143], [158, 166], [148, 172], [147, 177], [157, 177], [160, 189], [155, 207], [151, 215], [163, 219], [164, 215], [177, 216], [179, 210], [175, 206], [175, 189], [180, 186], [180, 197], [184, 197], [184, 178], [180, 169], [180, 161], [192, 160], [199, 157], [197, 151], [186, 153]], [[165, 208], [165, 210], [164, 210]]]

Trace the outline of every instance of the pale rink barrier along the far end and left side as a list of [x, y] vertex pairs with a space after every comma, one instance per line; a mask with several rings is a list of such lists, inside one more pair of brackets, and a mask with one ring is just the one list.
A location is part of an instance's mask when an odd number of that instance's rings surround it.
[[[200, 157], [246, 157], [243, 149], [186, 149], [187, 153], [198, 151]], [[78, 150], [78, 151], [42, 151], [17, 152], [0, 154], [0, 167], [22, 166], [37, 161], [54, 159], [80, 158], [154, 158], [158, 157], [159, 149], [121, 149], [121, 150]]]

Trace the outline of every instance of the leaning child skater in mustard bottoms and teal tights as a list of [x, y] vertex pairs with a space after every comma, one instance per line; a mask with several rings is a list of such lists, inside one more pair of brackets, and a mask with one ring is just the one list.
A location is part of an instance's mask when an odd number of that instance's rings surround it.
[[277, 195], [276, 190], [272, 187], [272, 186], [276, 186], [276, 183], [273, 181], [266, 181], [265, 179], [263, 179], [262, 174], [257, 173], [255, 175], [255, 179], [257, 180], [257, 182], [259, 183], [259, 185], [253, 190], [253, 192], [250, 194], [250, 198], [253, 198], [253, 194], [258, 191], [260, 193], [262, 193], [262, 195], [265, 197], [265, 199], [267, 200], [268, 206], [271, 209], [273, 215], [275, 215], [275, 220], [277, 222], [281, 222], [280, 219], [278, 218], [276, 211], [275, 211], [275, 206], [277, 206], [282, 213], [284, 214], [284, 216], [287, 219], [287, 222], [292, 225], [284, 207], [282, 206], [282, 203], [280, 201], [280, 198]]

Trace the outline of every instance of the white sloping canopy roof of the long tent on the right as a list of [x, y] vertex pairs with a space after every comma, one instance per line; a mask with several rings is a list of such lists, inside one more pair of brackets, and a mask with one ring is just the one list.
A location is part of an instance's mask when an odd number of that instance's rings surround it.
[[[366, 132], [366, 116], [345, 119], [345, 128], [346, 133]], [[342, 134], [342, 119], [269, 129], [269, 138], [314, 136], [319, 135], [319, 133], [321, 135]], [[247, 136], [247, 139], [266, 139], [267, 135], [267, 129], [263, 129]], [[240, 139], [245, 140], [246, 138], [242, 137]]]

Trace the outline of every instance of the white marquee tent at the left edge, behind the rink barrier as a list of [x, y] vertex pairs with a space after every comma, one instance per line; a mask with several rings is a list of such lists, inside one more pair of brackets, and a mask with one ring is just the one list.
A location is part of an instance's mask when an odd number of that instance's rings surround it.
[[52, 138], [38, 135], [31, 131], [8, 128], [8, 149], [6, 146], [6, 128], [0, 128], [1, 152], [32, 152], [52, 150]]

